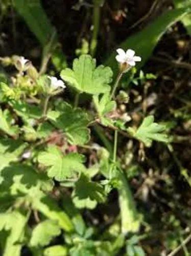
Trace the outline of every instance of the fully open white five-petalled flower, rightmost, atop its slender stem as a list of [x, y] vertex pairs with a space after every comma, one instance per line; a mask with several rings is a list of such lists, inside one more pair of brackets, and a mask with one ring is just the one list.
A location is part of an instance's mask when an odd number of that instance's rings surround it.
[[127, 63], [129, 66], [134, 67], [136, 61], [141, 61], [141, 57], [135, 56], [135, 51], [129, 49], [125, 52], [123, 49], [116, 50], [118, 55], [115, 57], [120, 63]]

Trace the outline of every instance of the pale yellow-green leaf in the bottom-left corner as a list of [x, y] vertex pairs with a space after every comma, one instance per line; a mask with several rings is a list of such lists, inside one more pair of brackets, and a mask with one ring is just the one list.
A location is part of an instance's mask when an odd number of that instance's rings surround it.
[[3, 243], [4, 256], [20, 256], [22, 242], [25, 238], [25, 226], [28, 221], [28, 215], [15, 210], [0, 214], [0, 238], [5, 237]]

